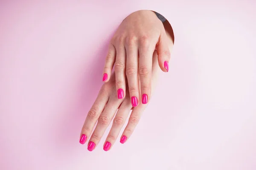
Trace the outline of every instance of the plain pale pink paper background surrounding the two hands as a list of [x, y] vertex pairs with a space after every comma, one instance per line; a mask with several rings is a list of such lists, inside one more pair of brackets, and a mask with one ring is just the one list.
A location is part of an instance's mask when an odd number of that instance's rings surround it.
[[[255, 0], [0, 1], [0, 170], [255, 170], [255, 8]], [[160, 73], [127, 143], [105, 152], [103, 139], [89, 152], [79, 135], [108, 41], [140, 9], [174, 28], [169, 74]]]

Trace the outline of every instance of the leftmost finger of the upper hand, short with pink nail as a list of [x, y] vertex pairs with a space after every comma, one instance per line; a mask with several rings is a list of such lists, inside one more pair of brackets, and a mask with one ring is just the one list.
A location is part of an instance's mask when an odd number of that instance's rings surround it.
[[108, 82], [108, 80], [110, 79], [111, 71], [115, 63], [115, 59], [116, 59], [116, 48], [114, 47], [113, 44], [110, 43], [108, 47], [108, 54], [105, 59], [104, 70], [103, 70], [103, 78], [102, 78], [103, 82]]

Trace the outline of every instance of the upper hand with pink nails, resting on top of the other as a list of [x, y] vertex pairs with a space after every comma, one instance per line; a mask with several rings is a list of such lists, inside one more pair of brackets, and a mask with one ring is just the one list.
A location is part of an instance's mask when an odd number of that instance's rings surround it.
[[155, 49], [160, 68], [164, 72], [169, 71], [170, 51], [167, 39], [163, 23], [153, 11], [136, 11], [125, 18], [111, 40], [103, 71], [103, 81], [108, 82], [115, 65], [118, 99], [127, 96], [125, 92], [128, 87], [133, 107], [139, 105], [140, 96], [142, 104], [148, 103], [151, 96], [152, 55]]

